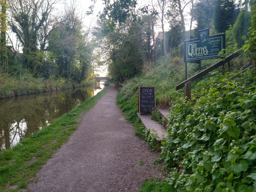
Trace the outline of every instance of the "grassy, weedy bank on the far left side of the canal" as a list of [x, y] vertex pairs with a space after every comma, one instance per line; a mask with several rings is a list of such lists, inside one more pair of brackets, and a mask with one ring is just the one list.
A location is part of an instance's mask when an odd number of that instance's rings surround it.
[[66, 80], [64, 78], [55, 78], [54, 76], [45, 80], [44, 78], [35, 78], [29, 73], [20, 76], [0, 74], [0, 99], [87, 85], [94, 85], [94, 81], [83, 81], [81, 84], [77, 84], [72, 79]]

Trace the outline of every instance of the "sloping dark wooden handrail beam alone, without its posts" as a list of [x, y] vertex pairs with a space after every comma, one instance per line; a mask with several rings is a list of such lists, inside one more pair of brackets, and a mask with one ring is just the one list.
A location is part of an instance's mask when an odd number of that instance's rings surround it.
[[182, 83], [178, 84], [176, 86], [176, 91], [178, 91], [179, 89], [183, 88], [185, 86], [186, 83], [193, 82], [199, 78], [201, 78], [202, 76], [205, 76], [206, 74], [208, 74], [209, 72], [213, 71], [214, 69], [224, 65], [225, 63], [231, 61], [232, 59], [235, 59], [236, 57], [238, 57], [239, 55], [241, 55], [241, 53], [239, 53], [240, 50], [228, 55], [228, 57], [225, 58], [225, 60], [220, 60], [217, 63], [215, 63], [214, 65], [212, 65], [211, 67], [208, 67], [206, 69], [204, 69], [203, 71], [201, 71], [200, 73], [197, 73], [196, 75], [190, 77], [189, 79], [183, 81]]

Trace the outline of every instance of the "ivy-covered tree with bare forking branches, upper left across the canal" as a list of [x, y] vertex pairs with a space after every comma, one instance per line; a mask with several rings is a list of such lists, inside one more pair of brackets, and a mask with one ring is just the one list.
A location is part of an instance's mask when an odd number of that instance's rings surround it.
[[10, 1], [11, 28], [23, 47], [23, 67], [30, 69], [31, 72], [34, 72], [36, 65], [34, 58], [36, 57], [38, 32], [44, 22], [47, 22], [55, 2], [55, 0]]

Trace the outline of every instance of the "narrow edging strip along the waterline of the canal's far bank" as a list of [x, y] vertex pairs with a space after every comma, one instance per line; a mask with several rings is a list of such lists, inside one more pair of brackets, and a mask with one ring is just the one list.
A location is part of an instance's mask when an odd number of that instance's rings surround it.
[[94, 81], [88, 81], [86, 84], [72, 84], [71, 86], [63, 86], [63, 87], [50, 87], [45, 89], [34, 89], [34, 90], [21, 90], [18, 91], [17, 89], [11, 92], [6, 92], [3, 94], [0, 94], [0, 99], [10, 98], [10, 97], [16, 97], [20, 95], [28, 95], [28, 94], [34, 94], [34, 93], [42, 93], [42, 92], [52, 92], [52, 91], [59, 91], [59, 90], [65, 90], [65, 89], [72, 89], [72, 88], [79, 88], [79, 87], [86, 87], [86, 86], [93, 86]]

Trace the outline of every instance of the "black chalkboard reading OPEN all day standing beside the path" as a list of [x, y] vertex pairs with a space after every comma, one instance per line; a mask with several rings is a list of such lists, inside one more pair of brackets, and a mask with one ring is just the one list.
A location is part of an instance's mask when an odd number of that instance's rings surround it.
[[139, 87], [139, 113], [149, 114], [156, 107], [156, 87]]

